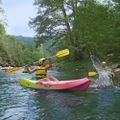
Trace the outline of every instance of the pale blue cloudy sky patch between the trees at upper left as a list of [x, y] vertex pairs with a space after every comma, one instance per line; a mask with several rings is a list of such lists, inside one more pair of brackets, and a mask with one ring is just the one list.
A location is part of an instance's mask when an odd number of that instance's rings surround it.
[[7, 19], [7, 34], [34, 36], [35, 33], [29, 28], [30, 18], [35, 17], [36, 9], [33, 0], [3, 0], [2, 6]]

